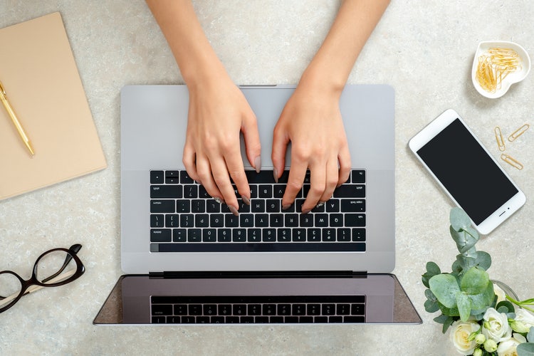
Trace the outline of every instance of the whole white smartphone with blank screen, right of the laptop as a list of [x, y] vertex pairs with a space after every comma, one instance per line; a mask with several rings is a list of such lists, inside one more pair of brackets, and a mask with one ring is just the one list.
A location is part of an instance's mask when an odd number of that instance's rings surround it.
[[409, 147], [483, 235], [525, 204], [525, 194], [454, 110], [426, 125]]

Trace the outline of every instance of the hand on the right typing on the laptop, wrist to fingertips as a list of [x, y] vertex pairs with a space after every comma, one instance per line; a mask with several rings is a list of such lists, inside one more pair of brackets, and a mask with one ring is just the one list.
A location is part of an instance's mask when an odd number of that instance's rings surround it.
[[283, 173], [289, 142], [291, 165], [282, 206], [287, 209], [293, 204], [310, 169], [310, 192], [302, 206], [305, 214], [330, 199], [350, 174], [350, 152], [337, 93], [298, 85], [274, 128], [271, 159], [275, 179]]

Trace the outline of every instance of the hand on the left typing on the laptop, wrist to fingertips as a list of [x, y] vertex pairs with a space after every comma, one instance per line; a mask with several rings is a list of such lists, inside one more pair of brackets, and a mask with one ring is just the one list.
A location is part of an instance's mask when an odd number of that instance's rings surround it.
[[259, 171], [258, 125], [241, 90], [229, 78], [189, 88], [184, 166], [189, 177], [204, 185], [211, 197], [226, 202], [234, 214], [239, 204], [230, 178], [246, 204], [251, 197], [241, 159], [241, 131], [248, 162]]

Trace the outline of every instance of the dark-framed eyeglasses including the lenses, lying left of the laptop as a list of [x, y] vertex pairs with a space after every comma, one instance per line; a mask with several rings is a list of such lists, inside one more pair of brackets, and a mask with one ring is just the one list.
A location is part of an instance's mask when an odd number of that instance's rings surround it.
[[33, 273], [27, 281], [13, 271], [0, 272], [0, 313], [11, 308], [23, 295], [43, 287], [58, 287], [79, 278], [85, 272], [76, 255], [82, 246], [53, 248], [37, 258]]

